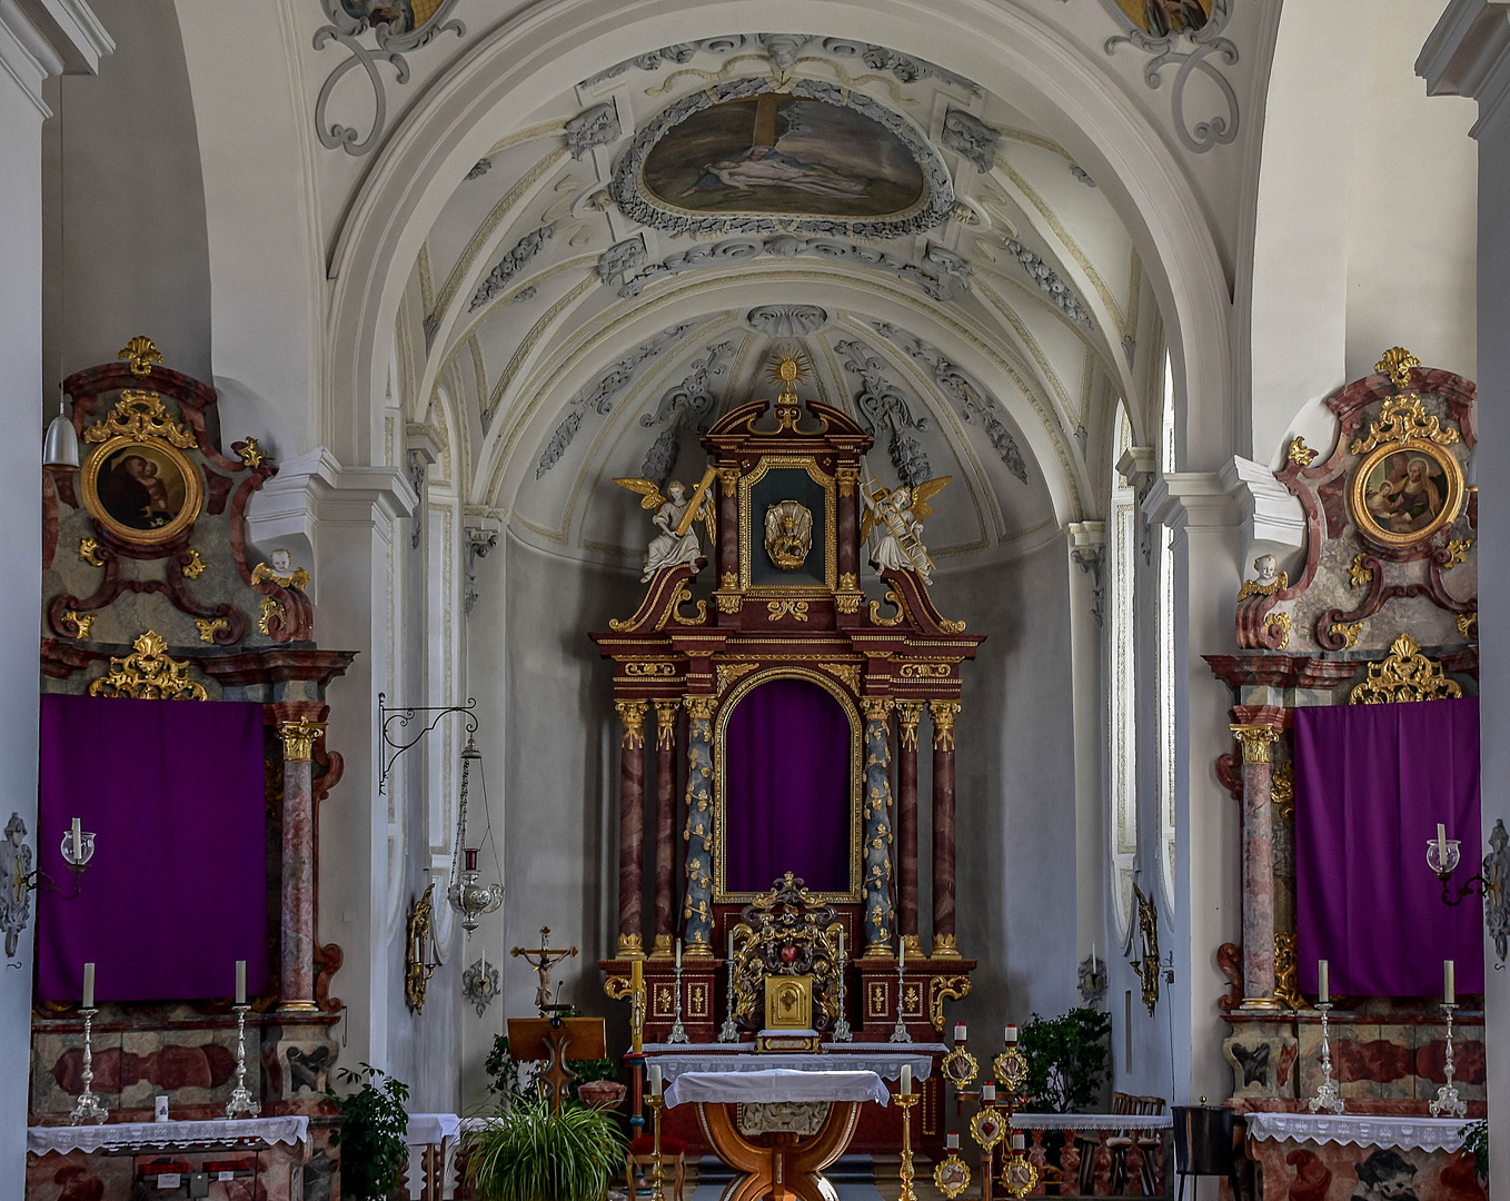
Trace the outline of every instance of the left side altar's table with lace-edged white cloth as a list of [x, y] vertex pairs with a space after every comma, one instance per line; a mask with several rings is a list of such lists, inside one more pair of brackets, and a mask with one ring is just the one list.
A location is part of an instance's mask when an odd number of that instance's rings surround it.
[[26, 1195], [38, 1201], [142, 1195], [302, 1201], [310, 1119], [33, 1125], [26, 1150]]

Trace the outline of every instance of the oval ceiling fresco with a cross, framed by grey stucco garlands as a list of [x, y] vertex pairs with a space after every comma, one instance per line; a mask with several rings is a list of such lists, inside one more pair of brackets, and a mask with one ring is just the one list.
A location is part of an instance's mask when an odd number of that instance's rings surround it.
[[923, 171], [894, 133], [853, 109], [790, 95], [693, 113], [645, 159], [655, 199], [698, 213], [894, 216]]

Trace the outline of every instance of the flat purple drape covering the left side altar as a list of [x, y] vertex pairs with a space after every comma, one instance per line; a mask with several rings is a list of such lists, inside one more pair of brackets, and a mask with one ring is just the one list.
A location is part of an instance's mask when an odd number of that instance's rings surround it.
[[230, 997], [236, 961], [267, 990], [263, 707], [42, 696], [38, 866], [74, 817], [95, 832], [79, 896], [38, 893], [36, 991], [77, 1002]]

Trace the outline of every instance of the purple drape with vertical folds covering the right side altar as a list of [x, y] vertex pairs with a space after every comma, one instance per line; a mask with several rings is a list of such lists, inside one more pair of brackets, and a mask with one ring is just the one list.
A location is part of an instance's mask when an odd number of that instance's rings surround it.
[[1436, 825], [1462, 840], [1454, 882], [1478, 872], [1478, 699], [1294, 710], [1300, 991], [1317, 959], [1332, 993], [1441, 996], [1484, 988], [1483, 903], [1442, 903], [1425, 864]]

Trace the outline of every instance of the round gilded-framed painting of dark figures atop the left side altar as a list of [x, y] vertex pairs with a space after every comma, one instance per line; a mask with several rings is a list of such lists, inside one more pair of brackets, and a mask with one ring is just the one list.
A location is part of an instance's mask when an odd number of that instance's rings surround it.
[[100, 444], [80, 476], [89, 515], [127, 544], [172, 542], [193, 526], [204, 505], [199, 468], [163, 438], [118, 434]]

